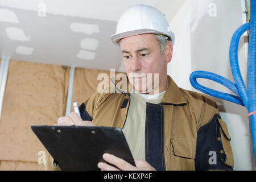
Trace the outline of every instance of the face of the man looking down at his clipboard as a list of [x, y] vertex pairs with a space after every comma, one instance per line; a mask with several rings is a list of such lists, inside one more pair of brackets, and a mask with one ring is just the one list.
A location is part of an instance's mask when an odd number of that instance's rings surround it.
[[123, 38], [120, 48], [123, 65], [133, 88], [139, 93], [156, 91], [167, 76], [167, 61], [160, 52], [160, 44], [155, 35], [142, 34]]

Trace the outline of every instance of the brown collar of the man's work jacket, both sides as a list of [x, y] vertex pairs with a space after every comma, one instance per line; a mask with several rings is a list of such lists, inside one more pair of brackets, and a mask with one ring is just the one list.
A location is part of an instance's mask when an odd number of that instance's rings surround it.
[[[119, 92], [123, 94], [129, 94], [131, 91], [131, 84], [129, 83], [129, 80], [126, 76], [126, 83], [122, 85], [122, 89], [118, 88], [117, 83], [119, 82], [120, 78], [110, 78], [110, 84], [114, 84], [114, 88]], [[176, 85], [174, 80], [167, 75], [168, 80], [168, 87], [166, 92], [164, 93], [164, 96], [162, 98], [161, 104], [166, 105], [186, 105], [187, 101], [183, 97], [183, 94], [180, 91], [180, 88]]]

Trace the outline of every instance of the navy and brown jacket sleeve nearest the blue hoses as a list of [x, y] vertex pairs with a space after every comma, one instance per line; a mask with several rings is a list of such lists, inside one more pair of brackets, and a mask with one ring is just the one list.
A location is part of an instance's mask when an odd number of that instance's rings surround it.
[[201, 126], [197, 130], [195, 168], [196, 170], [233, 170], [234, 159], [228, 127], [221, 120], [214, 101], [206, 100], [204, 107]]

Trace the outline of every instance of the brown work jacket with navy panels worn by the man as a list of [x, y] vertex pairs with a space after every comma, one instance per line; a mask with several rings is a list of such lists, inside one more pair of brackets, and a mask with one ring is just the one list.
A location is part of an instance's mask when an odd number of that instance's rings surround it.
[[[129, 93], [123, 90], [115, 83], [118, 93], [94, 93], [80, 105], [81, 118], [96, 126], [123, 128], [130, 104]], [[179, 88], [170, 76], [160, 104], [146, 104], [145, 147], [146, 161], [157, 170], [233, 170], [234, 166], [228, 127], [216, 102]], [[46, 169], [60, 169], [49, 154]]]

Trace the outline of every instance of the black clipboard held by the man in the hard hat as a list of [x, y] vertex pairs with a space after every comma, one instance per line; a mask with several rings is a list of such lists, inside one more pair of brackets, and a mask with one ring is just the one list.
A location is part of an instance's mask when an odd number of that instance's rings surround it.
[[97, 126], [31, 125], [55, 162], [63, 170], [100, 170], [104, 153], [113, 154], [135, 166], [122, 129]]

